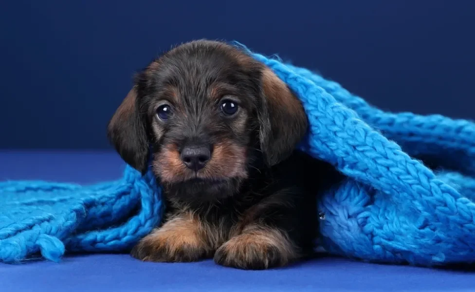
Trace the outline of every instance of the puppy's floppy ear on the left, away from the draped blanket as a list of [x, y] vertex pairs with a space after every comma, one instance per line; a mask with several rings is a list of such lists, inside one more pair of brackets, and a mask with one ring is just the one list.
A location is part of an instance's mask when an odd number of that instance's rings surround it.
[[115, 111], [107, 127], [107, 136], [122, 159], [145, 174], [148, 168], [148, 137], [145, 120], [140, 116], [137, 92], [133, 87]]

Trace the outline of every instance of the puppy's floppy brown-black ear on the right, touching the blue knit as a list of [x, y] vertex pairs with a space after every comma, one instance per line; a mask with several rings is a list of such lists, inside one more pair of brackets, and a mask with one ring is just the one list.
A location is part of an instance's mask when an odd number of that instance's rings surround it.
[[269, 166], [285, 160], [307, 132], [300, 100], [271, 69], [262, 71], [263, 98], [259, 112], [259, 140]]

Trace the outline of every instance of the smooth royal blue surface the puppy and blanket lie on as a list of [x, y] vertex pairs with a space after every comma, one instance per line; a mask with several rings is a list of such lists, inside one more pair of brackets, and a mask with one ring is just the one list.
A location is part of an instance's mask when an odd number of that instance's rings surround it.
[[[0, 180], [95, 183], [121, 176], [115, 153], [2, 152]], [[211, 261], [144, 263], [128, 255], [68, 256], [60, 263], [0, 264], [0, 291], [474, 291], [475, 272], [365, 264], [325, 258], [270, 271]]]

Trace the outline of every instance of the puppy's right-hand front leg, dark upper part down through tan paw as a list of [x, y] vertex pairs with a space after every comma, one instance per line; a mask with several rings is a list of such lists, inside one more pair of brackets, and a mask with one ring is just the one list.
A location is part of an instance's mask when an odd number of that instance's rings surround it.
[[[249, 209], [237, 227], [241, 231], [216, 251], [216, 263], [239, 269], [262, 270], [285, 266], [304, 256], [311, 247], [311, 222], [282, 191]], [[291, 198], [293, 199], [293, 198]], [[305, 230], [306, 226], [308, 230]], [[304, 231], [305, 230], [305, 231]]]

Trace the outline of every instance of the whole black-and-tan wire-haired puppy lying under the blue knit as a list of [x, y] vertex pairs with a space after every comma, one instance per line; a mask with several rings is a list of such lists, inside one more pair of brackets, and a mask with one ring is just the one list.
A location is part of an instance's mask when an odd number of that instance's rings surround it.
[[153, 60], [108, 126], [164, 188], [164, 221], [132, 256], [268, 269], [311, 255], [322, 168], [294, 150], [307, 128], [291, 90], [234, 46], [191, 41]]

